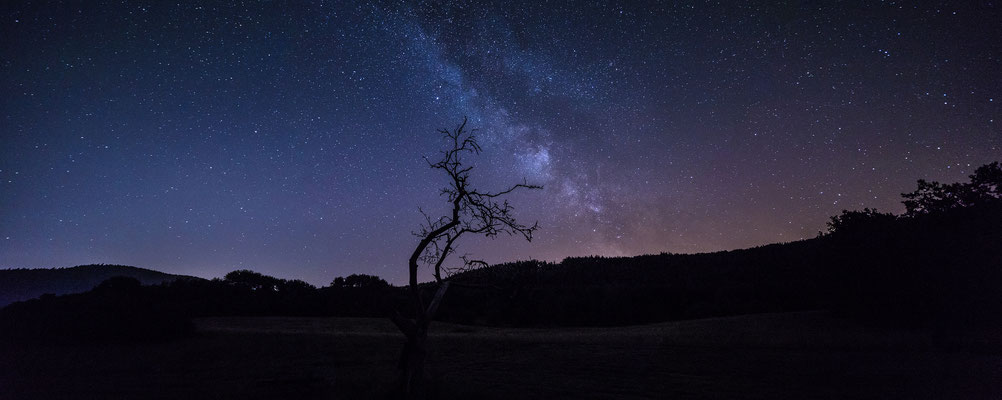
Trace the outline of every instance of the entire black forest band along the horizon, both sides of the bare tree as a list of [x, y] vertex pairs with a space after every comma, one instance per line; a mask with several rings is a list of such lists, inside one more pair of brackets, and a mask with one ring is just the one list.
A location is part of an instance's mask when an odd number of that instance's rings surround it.
[[[1000, 326], [1002, 168], [967, 182], [919, 180], [906, 213], [844, 211], [817, 238], [697, 255], [526, 261], [472, 269], [437, 320], [507, 327], [616, 326], [828, 310], [867, 324], [941, 331]], [[417, 288], [430, 299], [435, 287]], [[389, 317], [407, 287], [351, 275], [315, 288], [241, 270], [221, 279], [141, 285], [117, 277], [80, 294], [0, 310], [13, 340], [122, 342], [193, 334], [210, 316]]]

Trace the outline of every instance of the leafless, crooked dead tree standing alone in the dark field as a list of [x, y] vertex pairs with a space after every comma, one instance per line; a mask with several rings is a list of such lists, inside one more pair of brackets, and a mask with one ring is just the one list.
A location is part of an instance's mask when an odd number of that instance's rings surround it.
[[[449, 183], [442, 188], [441, 194], [448, 199], [452, 210], [448, 215], [439, 218], [421, 212], [425, 216], [425, 223], [415, 233], [420, 241], [408, 260], [409, 290], [411, 303], [414, 306], [414, 318], [404, 318], [399, 313], [393, 317], [393, 322], [407, 337], [407, 344], [400, 360], [400, 385], [404, 397], [419, 397], [419, 392], [424, 390], [422, 383], [428, 327], [449, 289], [449, 277], [459, 271], [486, 265], [482, 261], [464, 255], [460, 257], [461, 267], [444, 267], [446, 259], [456, 252], [456, 241], [467, 234], [488, 238], [507, 234], [532, 241], [532, 234], [539, 228], [538, 223], [531, 226], [519, 224], [513, 216], [514, 209], [504, 197], [515, 190], [539, 189], [542, 188], [541, 185], [529, 184], [523, 179], [522, 183], [513, 184], [499, 191], [480, 191], [471, 187], [470, 171], [473, 170], [473, 166], [467, 164], [464, 157], [477, 155], [481, 149], [477, 142], [476, 129], [467, 129], [466, 122], [466, 118], [463, 118], [463, 122], [451, 131], [440, 129], [439, 132], [448, 143], [446, 149], [441, 151], [441, 158], [438, 160], [425, 157], [429, 166], [442, 170], [449, 176]], [[425, 302], [418, 287], [418, 268], [422, 264], [432, 269], [432, 275], [438, 285], [430, 303]]]

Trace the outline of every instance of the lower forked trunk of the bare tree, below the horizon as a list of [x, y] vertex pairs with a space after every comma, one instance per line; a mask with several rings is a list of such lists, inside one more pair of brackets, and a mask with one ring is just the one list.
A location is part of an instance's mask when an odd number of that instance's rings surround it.
[[[407, 337], [404, 350], [400, 354], [400, 382], [398, 390], [401, 398], [404, 399], [424, 399], [428, 395], [427, 377], [425, 376], [425, 360], [428, 356], [428, 328], [432, 319], [438, 313], [439, 304], [449, 290], [449, 283], [444, 282], [435, 292], [435, 297], [427, 309], [417, 307], [418, 316], [414, 321], [405, 319], [400, 314], [395, 315], [392, 320], [397, 328]], [[415, 299], [421, 305], [421, 298]]]

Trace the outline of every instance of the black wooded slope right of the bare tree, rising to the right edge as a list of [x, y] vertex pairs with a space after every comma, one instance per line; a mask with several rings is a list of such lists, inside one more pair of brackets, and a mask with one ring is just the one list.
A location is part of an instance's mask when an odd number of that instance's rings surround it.
[[920, 180], [901, 216], [846, 211], [816, 239], [700, 255], [520, 262], [456, 276], [443, 319], [622, 325], [798, 310], [875, 324], [1002, 324], [1002, 169]]

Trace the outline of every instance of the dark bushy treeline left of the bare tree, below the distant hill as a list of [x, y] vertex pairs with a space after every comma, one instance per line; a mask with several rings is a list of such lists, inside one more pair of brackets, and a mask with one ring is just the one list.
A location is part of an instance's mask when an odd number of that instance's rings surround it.
[[0, 338], [44, 342], [122, 342], [193, 333], [192, 318], [213, 316], [385, 317], [402, 289], [379, 277], [352, 275], [315, 288], [253, 271], [222, 279], [176, 279], [143, 286], [108, 279], [91, 291], [44, 295], [0, 310]]

